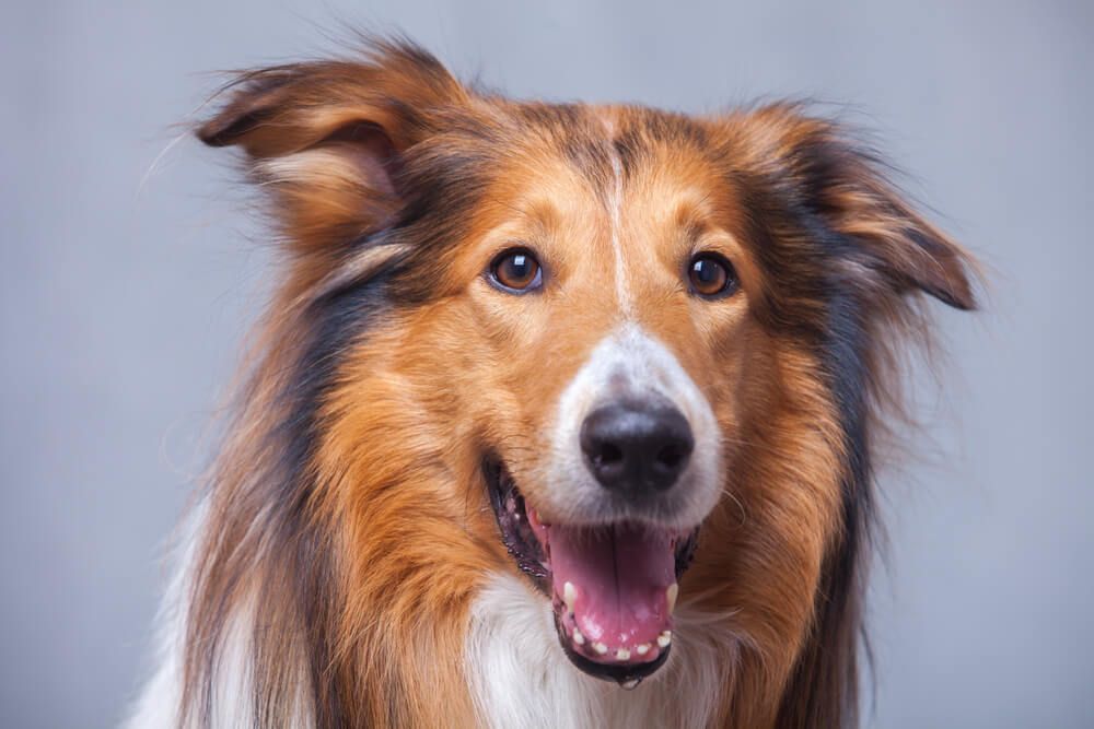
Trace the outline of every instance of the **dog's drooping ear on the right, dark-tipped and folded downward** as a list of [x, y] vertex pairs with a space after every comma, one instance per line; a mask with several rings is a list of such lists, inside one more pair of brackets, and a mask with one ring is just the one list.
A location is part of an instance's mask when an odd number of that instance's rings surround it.
[[764, 140], [767, 164], [789, 172], [794, 204], [852, 242], [857, 262], [898, 293], [922, 291], [958, 309], [976, 308], [973, 258], [906, 201], [866, 145], [795, 105], [749, 117], [747, 133]]

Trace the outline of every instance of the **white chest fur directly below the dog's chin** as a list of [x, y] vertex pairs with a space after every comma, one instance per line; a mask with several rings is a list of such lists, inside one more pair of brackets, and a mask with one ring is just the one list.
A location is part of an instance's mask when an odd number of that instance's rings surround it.
[[705, 727], [736, 657], [723, 621], [677, 609], [668, 661], [633, 691], [581, 673], [558, 645], [550, 605], [513, 575], [496, 575], [472, 608], [466, 645], [484, 722], [509, 727]]

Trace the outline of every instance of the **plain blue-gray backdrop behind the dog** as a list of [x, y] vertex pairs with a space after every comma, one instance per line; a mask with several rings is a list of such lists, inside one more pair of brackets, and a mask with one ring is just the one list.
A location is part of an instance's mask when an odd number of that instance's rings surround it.
[[[848, 103], [994, 272], [884, 480], [878, 727], [1094, 726], [1089, 2], [4, 2], [0, 726], [114, 724], [268, 280], [206, 72], [399, 26], [520, 96]], [[161, 154], [162, 153], [162, 154]], [[154, 162], [155, 161], [155, 162]], [[920, 377], [920, 379], [926, 379]]]

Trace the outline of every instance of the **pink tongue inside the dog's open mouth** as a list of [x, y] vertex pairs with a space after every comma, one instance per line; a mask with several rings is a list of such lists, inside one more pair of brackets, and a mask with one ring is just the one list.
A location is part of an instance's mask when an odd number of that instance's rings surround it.
[[590, 642], [613, 649], [656, 645], [672, 628], [667, 588], [676, 581], [674, 534], [617, 525], [596, 529], [551, 525], [555, 595], [573, 585], [573, 622]]

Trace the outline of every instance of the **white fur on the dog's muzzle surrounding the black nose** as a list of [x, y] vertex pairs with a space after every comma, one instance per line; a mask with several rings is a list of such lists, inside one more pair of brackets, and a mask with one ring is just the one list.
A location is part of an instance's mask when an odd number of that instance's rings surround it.
[[680, 528], [702, 521], [721, 494], [718, 420], [672, 351], [636, 324], [625, 324], [601, 341], [562, 391], [550, 436], [547, 503], [540, 505], [542, 510], [549, 507], [549, 513], [565, 520], [590, 522], [643, 516], [605, 510], [605, 490], [585, 467], [580, 436], [582, 423], [596, 408], [619, 399], [649, 398], [672, 402], [687, 419], [695, 439], [688, 466], [666, 492], [668, 503], [659, 518]]

